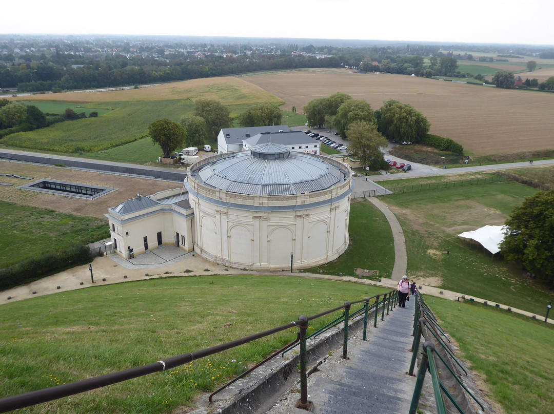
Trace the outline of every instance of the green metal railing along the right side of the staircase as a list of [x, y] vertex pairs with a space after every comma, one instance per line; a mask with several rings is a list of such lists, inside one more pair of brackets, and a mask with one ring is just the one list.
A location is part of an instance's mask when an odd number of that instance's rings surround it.
[[[429, 333], [431, 335], [429, 335]], [[428, 336], [428, 338], [425, 338], [425, 335]], [[437, 323], [437, 318], [435, 318], [435, 315], [427, 304], [425, 304], [423, 297], [421, 294], [418, 294], [416, 296], [416, 312], [414, 314], [414, 331], [413, 331], [414, 340], [412, 343], [412, 361], [410, 363], [410, 368], [408, 371], [409, 375], [413, 375], [414, 368], [416, 365], [416, 359], [418, 355], [418, 349], [419, 349], [419, 342], [420, 338], [424, 338], [425, 342], [423, 343], [423, 356], [422, 361], [419, 366], [417, 380], [416, 380], [416, 386], [414, 387], [414, 393], [412, 396], [412, 403], [410, 405], [409, 414], [416, 414], [417, 407], [419, 403], [419, 396], [421, 394], [421, 390], [423, 387], [423, 381], [425, 379], [425, 374], [427, 371], [431, 374], [431, 378], [433, 381], [433, 390], [435, 395], [435, 402], [437, 403], [437, 413], [438, 414], [446, 414], [446, 408], [444, 405], [444, 395], [448, 397], [450, 402], [456, 407], [456, 410], [458, 410], [461, 414], [465, 414], [463, 411], [463, 408], [461, 408], [459, 401], [456, 401], [452, 394], [448, 391], [447, 387], [445, 387], [442, 382], [440, 381], [440, 377], [438, 374], [437, 367], [435, 366], [435, 359], [433, 358], [434, 355], [437, 355], [440, 361], [447, 367], [447, 369], [450, 371], [450, 374], [452, 374], [452, 377], [458, 382], [458, 384], [464, 389], [464, 391], [481, 407], [481, 410], [485, 410], [483, 407], [483, 404], [471, 393], [471, 391], [468, 390], [468, 387], [466, 387], [463, 382], [460, 379], [460, 376], [454, 372], [452, 369], [452, 363], [449, 363], [446, 361], [442, 355], [435, 349], [435, 344], [430, 341], [429, 339], [433, 337], [439, 346], [442, 346], [442, 348], [446, 351], [447, 355], [451, 360], [453, 360], [458, 366], [464, 371], [465, 375], [468, 375], [468, 372], [464, 369], [464, 367], [460, 364], [459, 360], [454, 356], [454, 353], [452, 349], [448, 346], [448, 344], [441, 339], [440, 337], [444, 337], [448, 340], [447, 335], [445, 334], [444, 330], [440, 328], [440, 326]], [[449, 341], [450, 342], [450, 341]]]

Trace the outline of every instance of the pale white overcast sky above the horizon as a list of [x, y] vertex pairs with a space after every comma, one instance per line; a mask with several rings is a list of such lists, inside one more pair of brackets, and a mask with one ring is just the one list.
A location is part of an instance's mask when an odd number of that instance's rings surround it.
[[0, 33], [554, 45], [552, 0], [4, 0], [0, 9]]

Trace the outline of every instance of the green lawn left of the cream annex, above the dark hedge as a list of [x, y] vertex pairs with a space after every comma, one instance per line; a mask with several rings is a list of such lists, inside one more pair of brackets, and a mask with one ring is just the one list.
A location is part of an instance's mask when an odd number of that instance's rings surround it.
[[109, 237], [105, 220], [0, 201], [0, 267], [78, 242]]

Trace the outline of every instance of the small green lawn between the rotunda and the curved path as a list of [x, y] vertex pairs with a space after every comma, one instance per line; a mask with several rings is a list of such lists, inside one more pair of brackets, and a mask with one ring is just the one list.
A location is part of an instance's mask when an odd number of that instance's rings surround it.
[[343, 273], [356, 277], [356, 269], [373, 271], [370, 278], [391, 277], [394, 266], [394, 243], [387, 219], [367, 200], [357, 200], [350, 206], [350, 246], [340, 257], [326, 265], [307, 271], [326, 275]]

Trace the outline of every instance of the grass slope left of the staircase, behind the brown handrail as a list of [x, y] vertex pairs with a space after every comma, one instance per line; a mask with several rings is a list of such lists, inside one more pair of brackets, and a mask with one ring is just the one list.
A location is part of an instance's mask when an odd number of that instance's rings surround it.
[[[0, 395], [151, 364], [386, 291], [299, 277], [183, 276], [4, 304], [0, 313]], [[309, 333], [338, 314], [310, 322]], [[179, 406], [192, 406], [197, 396], [293, 340], [296, 331], [290, 329], [181, 368], [25, 412], [174, 412]]]

